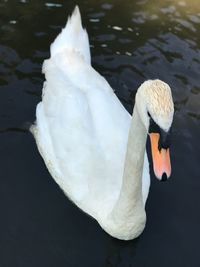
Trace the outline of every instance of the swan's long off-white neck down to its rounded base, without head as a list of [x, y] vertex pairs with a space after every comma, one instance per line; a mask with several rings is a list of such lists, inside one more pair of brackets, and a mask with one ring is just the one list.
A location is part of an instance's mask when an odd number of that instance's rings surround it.
[[146, 138], [147, 131], [135, 105], [129, 130], [122, 187], [117, 203], [109, 216], [109, 224], [115, 231], [113, 233], [120, 239], [137, 237], [145, 226], [142, 173]]

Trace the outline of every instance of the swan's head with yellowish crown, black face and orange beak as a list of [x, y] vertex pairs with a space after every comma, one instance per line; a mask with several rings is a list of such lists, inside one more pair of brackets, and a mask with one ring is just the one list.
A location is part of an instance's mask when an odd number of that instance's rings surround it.
[[169, 85], [160, 80], [144, 82], [136, 94], [136, 107], [151, 141], [154, 174], [167, 180], [171, 175], [169, 138], [174, 115]]

